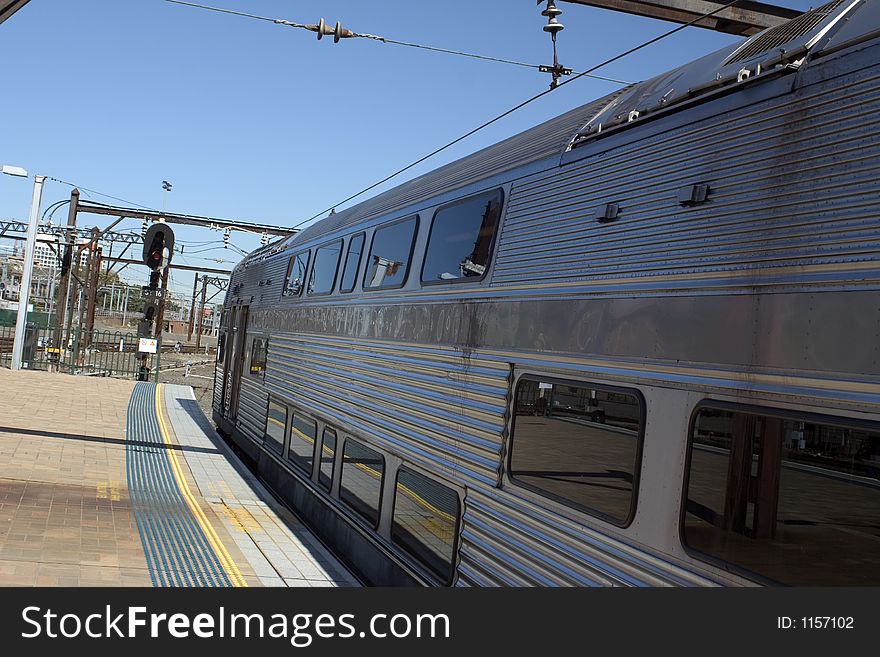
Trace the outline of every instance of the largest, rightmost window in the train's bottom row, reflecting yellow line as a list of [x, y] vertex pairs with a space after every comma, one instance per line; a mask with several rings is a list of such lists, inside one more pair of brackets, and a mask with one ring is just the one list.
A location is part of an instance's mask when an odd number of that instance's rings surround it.
[[454, 490], [401, 466], [394, 493], [391, 540], [443, 582], [449, 582], [460, 508]]

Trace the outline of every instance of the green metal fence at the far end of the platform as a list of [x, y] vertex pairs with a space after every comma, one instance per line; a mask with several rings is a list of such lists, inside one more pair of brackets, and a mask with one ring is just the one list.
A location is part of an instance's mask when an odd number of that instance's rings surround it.
[[[60, 353], [54, 347], [54, 328], [28, 327], [25, 334], [22, 366], [32, 370], [49, 370], [57, 365], [57, 371], [65, 374], [88, 376], [112, 376], [122, 379], [137, 378], [141, 367], [138, 358], [138, 338], [133, 333], [121, 331], [93, 331], [91, 340], [83, 340], [79, 329], [63, 341]], [[0, 326], [0, 366], [9, 367], [12, 362], [12, 345], [15, 327]], [[81, 345], [88, 344], [83, 348]], [[147, 367], [158, 380], [159, 352], [150, 355]]]

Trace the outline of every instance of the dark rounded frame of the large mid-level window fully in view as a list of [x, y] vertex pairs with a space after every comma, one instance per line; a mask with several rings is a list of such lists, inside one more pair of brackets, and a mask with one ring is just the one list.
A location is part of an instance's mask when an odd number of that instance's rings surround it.
[[[636, 445], [635, 451], [635, 462], [633, 466], [632, 496], [629, 513], [623, 520], [618, 520], [617, 518], [614, 518], [609, 514], [603, 513], [598, 509], [592, 509], [586, 505], [578, 504], [577, 502], [574, 502], [568, 498], [562, 497], [561, 495], [557, 495], [545, 489], [533, 486], [527, 482], [522, 481], [512, 474], [513, 471], [511, 468], [511, 463], [513, 461], [514, 442], [516, 440], [516, 398], [517, 390], [519, 389], [519, 385], [522, 381], [537, 381], [538, 383], [551, 383], [553, 385], [576, 386], [580, 388], [593, 387], [607, 392], [617, 392], [621, 394], [632, 395], [639, 402], [639, 433], [638, 443]], [[571, 509], [581, 514], [587, 515], [595, 520], [600, 520], [602, 522], [608, 523], [609, 525], [612, 525], [619, 529], [626, 529], [627, 527], [632, 525], [639, 507], [640, 482], [645, 447], [645, 429], [648, 414], [647, 401], [645, 400], [645, 396], [644, 394], [642, 394], [641, 390], [639, 390], [638, 388], [627, 388], [625, 386], [619, 386], [615, 384], [600, 383], [595, 380], [570, 379], [553, 375], [545, 376], [529, 371], [521, 374], [514, 381], [513, 394], [510, 404], [510, 433], [507, 440], [507, 457], [505, 459], [504, 466], [507, 481], [509, 481], [511, 485], [524, 490], [528, 490], [543, 499], [552, 500], [553, 502], [567, 509]]]

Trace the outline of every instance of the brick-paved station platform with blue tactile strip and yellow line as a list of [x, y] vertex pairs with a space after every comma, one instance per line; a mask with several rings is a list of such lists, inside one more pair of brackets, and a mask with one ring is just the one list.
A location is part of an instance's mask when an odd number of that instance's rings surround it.
[[0, 369], [0, 586], [357, 586], [188, 386]]

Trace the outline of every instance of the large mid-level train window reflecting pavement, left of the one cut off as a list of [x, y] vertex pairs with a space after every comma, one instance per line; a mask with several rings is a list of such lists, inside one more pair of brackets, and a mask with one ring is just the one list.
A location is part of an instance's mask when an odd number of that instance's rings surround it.
[[625, 527], [635, 511], [642, 409], [631, 390], [520, 380], [511, 480]]

